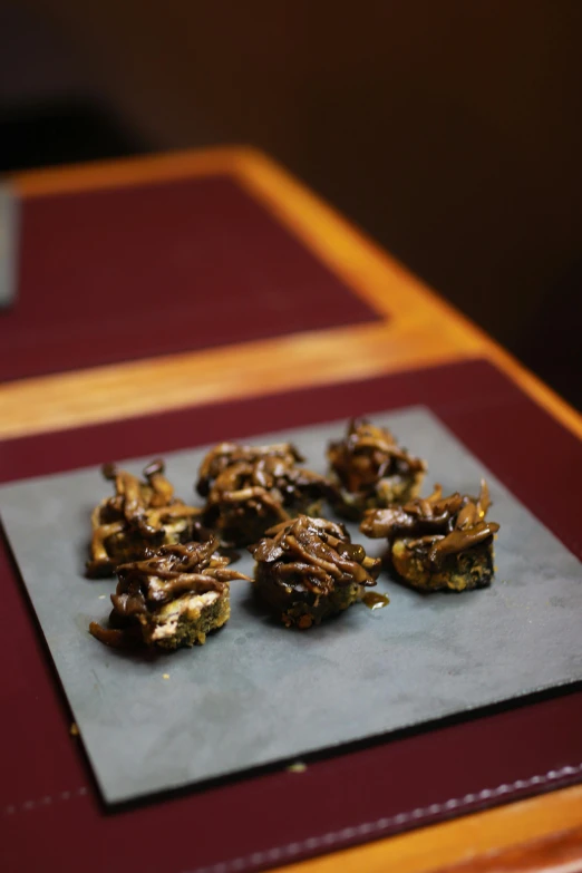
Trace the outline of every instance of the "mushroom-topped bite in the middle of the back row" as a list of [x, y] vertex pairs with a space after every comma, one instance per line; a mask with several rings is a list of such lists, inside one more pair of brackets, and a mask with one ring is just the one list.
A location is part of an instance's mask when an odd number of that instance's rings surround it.
[[202, 462], [196, 486], [206, 497], [204, 523], [224, 545], [243, 546], [299, 513], [319, 515], [329, 484], [299, 467], [302, 460], [290, 443], [216, 446]]

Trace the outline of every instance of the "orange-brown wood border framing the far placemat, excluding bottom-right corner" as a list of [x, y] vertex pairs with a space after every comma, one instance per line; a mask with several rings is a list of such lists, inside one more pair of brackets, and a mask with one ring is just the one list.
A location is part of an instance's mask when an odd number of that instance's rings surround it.
[[563, 424], [582, 418], [395, 259], [263, 154], [216, 148], [16, 174], [22, 197], [226, 174], [390, 320], [19, 380], [0, 386], [0, 438], [274, 389], [486, 357]]

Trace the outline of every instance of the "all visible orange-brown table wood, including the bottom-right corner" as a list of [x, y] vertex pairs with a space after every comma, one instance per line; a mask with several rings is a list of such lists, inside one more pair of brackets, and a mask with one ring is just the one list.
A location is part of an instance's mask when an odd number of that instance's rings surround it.
[[[385, 317], [357, 327], [7, 382], [0, 387], [0, 438], [475, 357], [494, 361], [565, 427], [582, 434], [582, 419], [560, 397], [260, 153], [216, 148], [47, 169], [17, 174], [11, 184], [21, 197], [32, 198], [216, 173], [236, 178]], [[452, 867], [582, 869], [582, 787], [297, 865], [305, 873], [338, 869], [420, 873]]]

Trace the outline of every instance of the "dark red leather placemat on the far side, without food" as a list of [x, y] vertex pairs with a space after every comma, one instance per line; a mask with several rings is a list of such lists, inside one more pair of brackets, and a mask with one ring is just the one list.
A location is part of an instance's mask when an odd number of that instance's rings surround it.
[[227, 177], [21, 206], [0, 380], [380, 318]]

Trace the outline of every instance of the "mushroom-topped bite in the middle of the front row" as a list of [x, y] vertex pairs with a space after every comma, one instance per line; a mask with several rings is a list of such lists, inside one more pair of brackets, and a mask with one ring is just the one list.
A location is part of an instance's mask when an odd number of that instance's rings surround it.
[[275, 525], [249, 551], [256, 594], [287, 627], [310, 628], [348, 609], [376, 584], [381, 564], [342, 524], [307, 515]]

